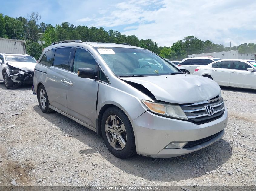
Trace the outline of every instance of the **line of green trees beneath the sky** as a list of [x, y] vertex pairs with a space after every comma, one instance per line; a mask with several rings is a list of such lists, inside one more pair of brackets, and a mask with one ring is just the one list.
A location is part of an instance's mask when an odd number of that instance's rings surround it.
[[[170, 60], [181, 60], [189, 54], [219, 52], [228, 50], [238, 50], [243, 53], [255, 53], [255, 43], [244, 43], [239, 46], [225, 47], [222, 44], [214, 44], [210, 40], [203, 41], [194, 36], [184, 37], [171, 46], [158, 46], [152, 39], [139, 39], [135, 35], [124, 35], [114, 30], [104, 30], [103, 27], [75, 26], [69, 22], [63, 22], [52, 26], [44, 22], [39, 22], [41, 16], [32, 12], [27, 18], [12, 18], [0, 13], [0, 37], [18, 40], [26, 40], [27, 54], [38, 59], [42, 53], [42, 48], [51, 43], [61, 40], [79, 39], [91, 42], [106, 43], [128, 43], [132, 46], [139, 46], [149, 49], [152, 52]], [[45, 41], [42, 46], [38, 40]]]

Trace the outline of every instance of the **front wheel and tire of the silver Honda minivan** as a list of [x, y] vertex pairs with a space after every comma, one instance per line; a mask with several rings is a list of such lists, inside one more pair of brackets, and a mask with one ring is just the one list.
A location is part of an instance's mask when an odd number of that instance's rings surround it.
[[[113, 121], [114, 121], [114, 125], [113, 125]], [[106, 126], [108, 126], [107, 131], [106, 131]], [[113, 126], [114, 127], [119, 126], [119, 127], [113, 128]], [[102, 120], [101, 120], [101, 131], [102, 131], [103, 140], [108, 150], [114, 156], [124, 159], [124, 158], [129, 158], [134, 154], [136, 154], [135, 138], [134, 138], [134, 132], [131, 126], [131, 122], [128, 119], [128, 117], [125, 115], [125, 113], [118, 107], [109, 107], [103, 113]], [[110, 143], [111, 142], [110, 139], [112, 139], [112, 144]], [[120, 142], [122, 142], [122, 144]], [[115, 145], [115, 147], [113, 147], [112, 145]]]

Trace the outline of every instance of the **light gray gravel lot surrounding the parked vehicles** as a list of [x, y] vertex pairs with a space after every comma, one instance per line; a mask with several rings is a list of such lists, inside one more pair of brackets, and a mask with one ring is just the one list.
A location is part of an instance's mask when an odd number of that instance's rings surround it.
[[182, 157], [121, 160], [92, 130], [42, 113], [31, 86], [0, 83], [0, 185], [255, 185], [256, 91], [222, 94], [229, 121], [218, 142]]

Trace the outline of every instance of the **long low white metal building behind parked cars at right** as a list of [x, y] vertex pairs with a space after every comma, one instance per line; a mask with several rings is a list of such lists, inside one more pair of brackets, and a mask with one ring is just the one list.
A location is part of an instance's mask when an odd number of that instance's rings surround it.
[[221, 59], [252, 59], [255, 60], [255, 53], [239, 53], [238, 50], [214, 52], [214, 53], [201, 53], [191, 54], [188, 58], [194, 57], [210, 57], [210, 58], [221, 58]]

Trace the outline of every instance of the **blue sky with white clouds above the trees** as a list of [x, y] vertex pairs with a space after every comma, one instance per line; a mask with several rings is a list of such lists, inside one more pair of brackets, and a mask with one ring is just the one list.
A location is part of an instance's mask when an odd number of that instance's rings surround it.
[[194, 35], [224, 46], [256, 43], [256, 1], [252, 0], [8, 0], [0, 13], [27, 17], [38, 12], [46, 24], [117, 30], [158, 46]]

